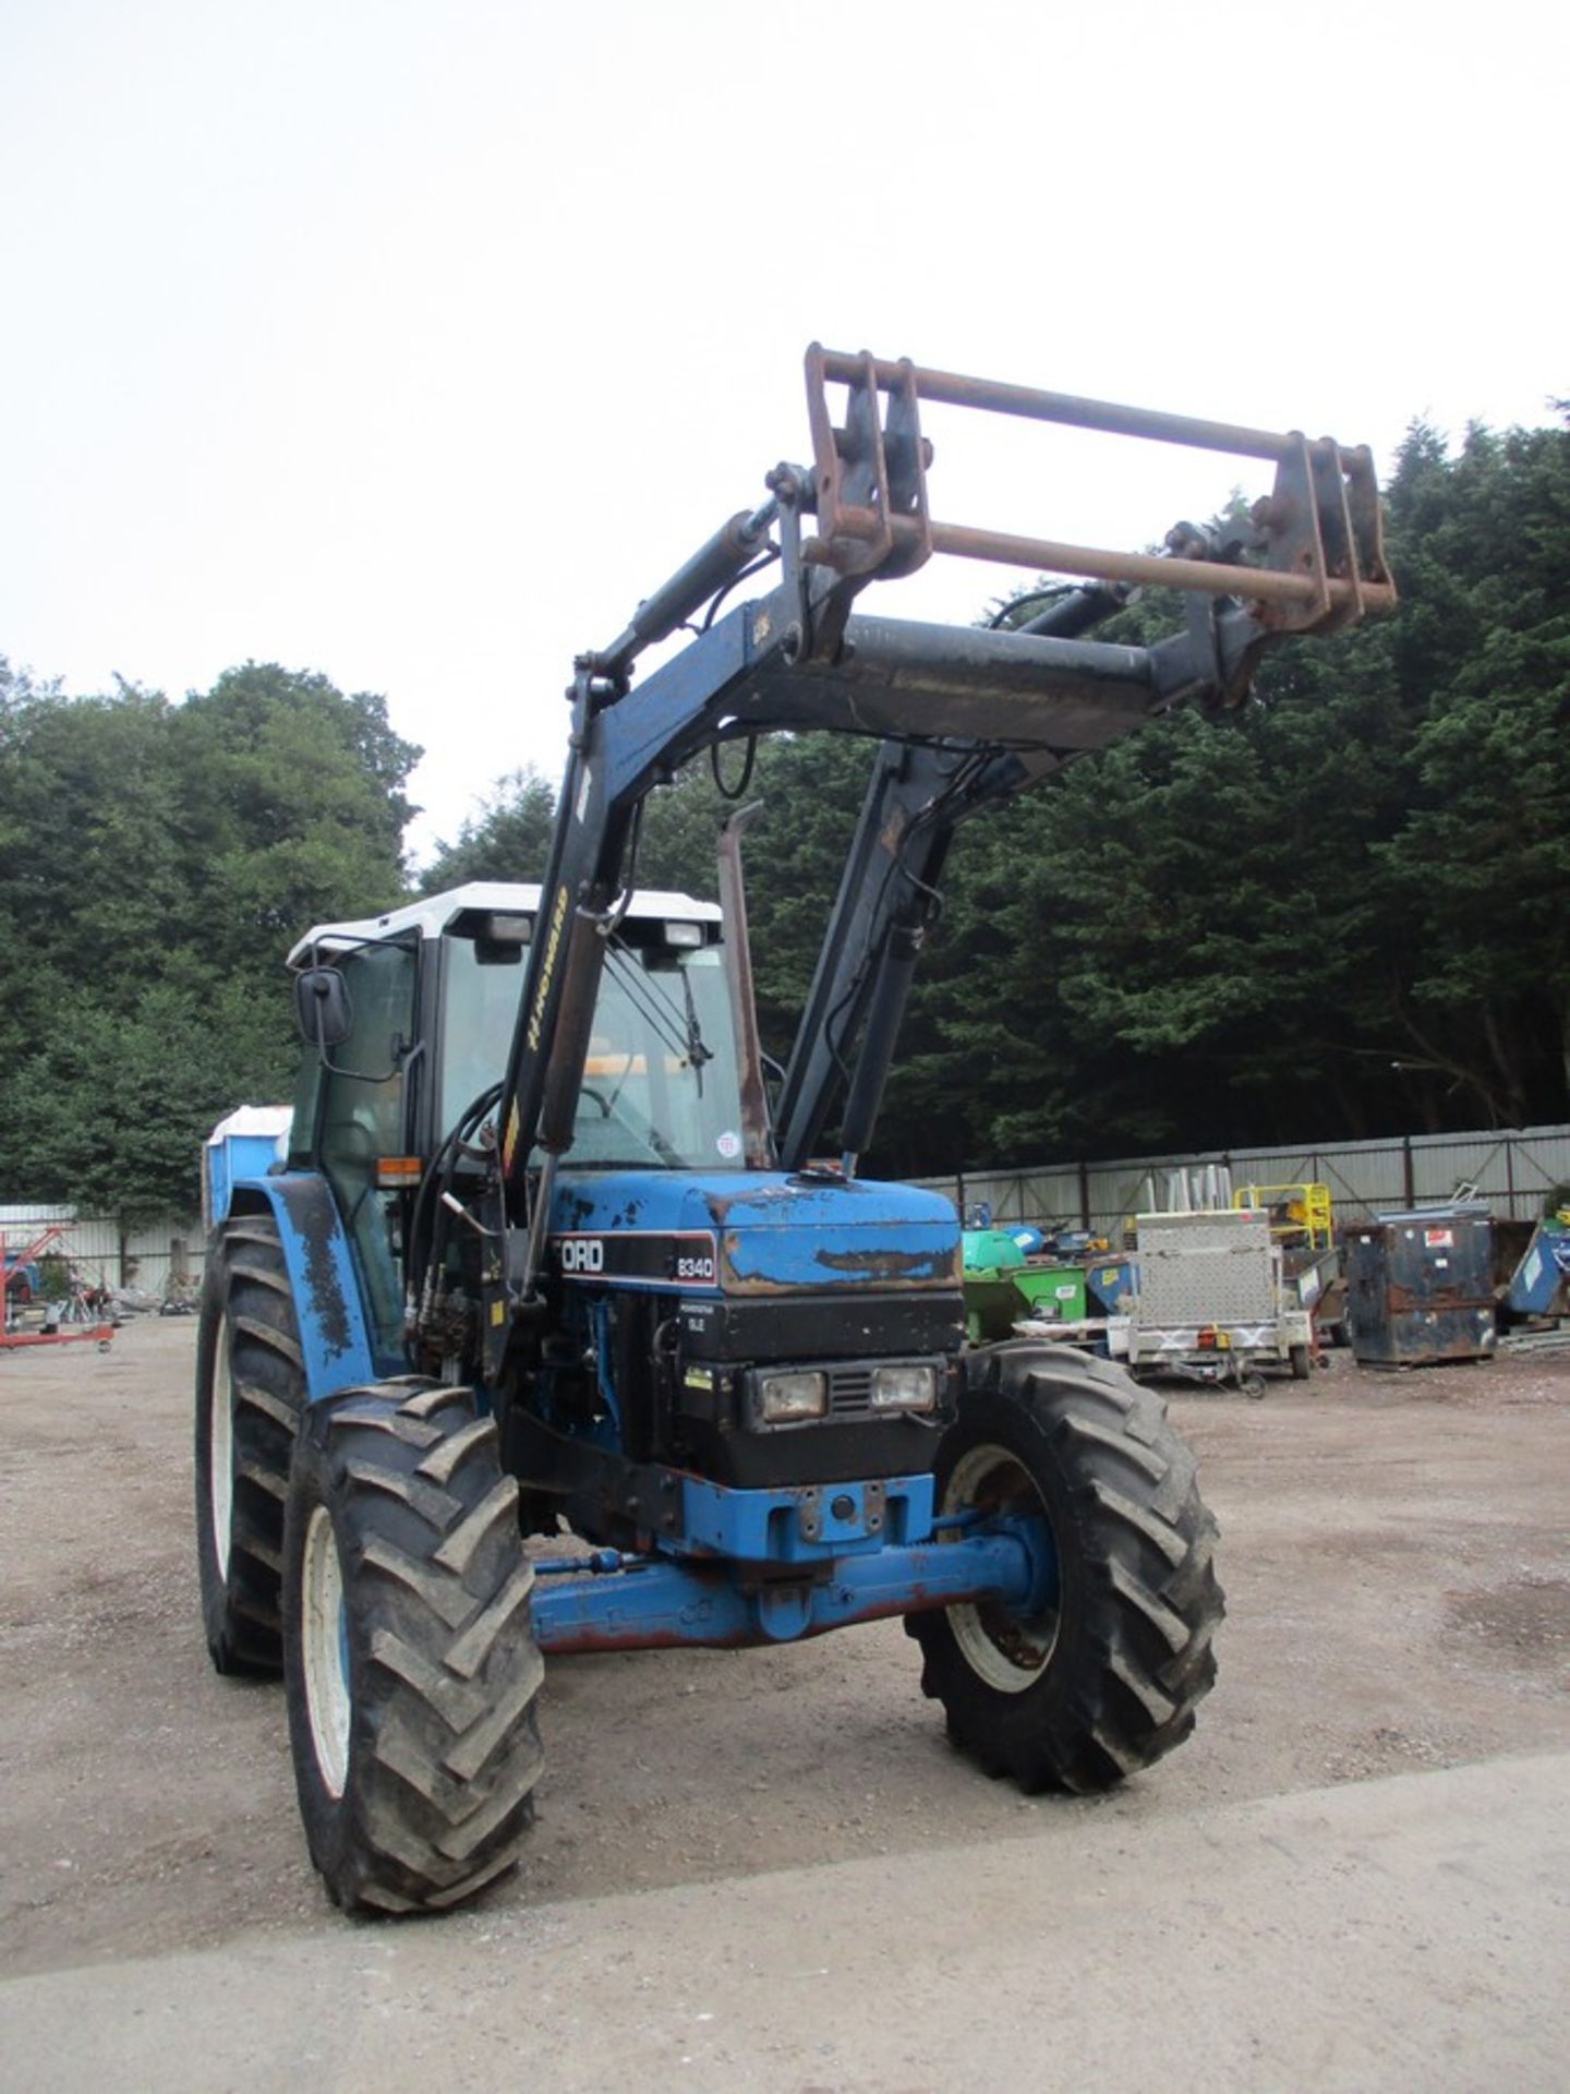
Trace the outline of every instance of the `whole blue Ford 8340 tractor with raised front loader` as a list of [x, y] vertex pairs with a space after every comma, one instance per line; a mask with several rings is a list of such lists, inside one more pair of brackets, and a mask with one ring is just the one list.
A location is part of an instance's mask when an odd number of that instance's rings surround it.
[[[1277, 490], [1160, 557], [936, 524], [927, 400], [1269, 456]], [[211, 1175], [207, 1646], [283, 1669], [352, 1910], [513, 1866], [557, 1652], [900, 1617], [955, 1744], [1026, 1790], [1149, 1767], [1212, 1684], [1214, 1522], [1158, 1397], [967, 1344], [950, 1204], [858, 1164], [957, 823], [1388, 605], [1369, 459], [818, 348], [808, 408], [812, 467], [578, 658], [540, 886], [316, 926], [287, 1156]], [[1082, 580], [994, 630], [856, 607], [932, 551]], [[1176, 591], [1172, 637], [1089, 639], [1137, 584]], [[718, 907], [638, 890], [636, 848], [651, 787], [781, 729], [877, 752], [770, 1093], [739, 823]]]

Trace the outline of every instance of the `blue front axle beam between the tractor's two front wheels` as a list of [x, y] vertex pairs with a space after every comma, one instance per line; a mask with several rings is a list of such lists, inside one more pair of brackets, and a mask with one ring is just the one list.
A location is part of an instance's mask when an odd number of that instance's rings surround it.
[[743, 1591], [724, 1564], [664, 1558], [609, 1577], [546, 1581], [534, 1589], [542, 1650], [653, 1650], [670, 1644], [779, 1644], [856, 1621], [911, 1614], [957, 1602], [999, 1602], [1038, 1612], [1055, 1594], [1055, 1568], [1038, 1543], [1045, 1527], [990, 1529], [959, 1541], [839, 1556], [827, 1579]]

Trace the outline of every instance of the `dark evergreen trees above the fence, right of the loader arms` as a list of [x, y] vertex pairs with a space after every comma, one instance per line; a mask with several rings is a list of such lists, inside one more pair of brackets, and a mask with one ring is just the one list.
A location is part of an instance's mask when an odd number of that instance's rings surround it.
[[1396, 618], [961, 831], [879, 1154], [957, 1114], [975, 1162], [1566, 1116], [1568, 459], [1413, 427]]

